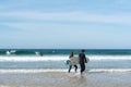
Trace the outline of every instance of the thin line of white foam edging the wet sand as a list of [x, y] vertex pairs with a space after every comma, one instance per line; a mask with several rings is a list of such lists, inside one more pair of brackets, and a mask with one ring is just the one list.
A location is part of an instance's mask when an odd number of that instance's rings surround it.
[[[61, 72], [61, 73], [68, 73], [68, 69], [37, 69], [37, 70], [0, 70], [0, 73], [57, 73], [57, 72]], [[87, 70], [88, 73], [123, 73], [123, 72], [131, 72], [131, 69], [92, 69], [92, 70]], [[87, 73], [86, 72], [86, 73]]]

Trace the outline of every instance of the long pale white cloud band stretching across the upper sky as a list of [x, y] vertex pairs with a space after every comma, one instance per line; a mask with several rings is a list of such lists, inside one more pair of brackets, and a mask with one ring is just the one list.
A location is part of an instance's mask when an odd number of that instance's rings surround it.
[[95, 23], [111, 23], [111, 24], [131, 24], [131, 14], [95, 14], [87, 12], [1, 12], [0, 17], [15, 17], [27, 21], [69, 21], [69, 22], [95, 22]]

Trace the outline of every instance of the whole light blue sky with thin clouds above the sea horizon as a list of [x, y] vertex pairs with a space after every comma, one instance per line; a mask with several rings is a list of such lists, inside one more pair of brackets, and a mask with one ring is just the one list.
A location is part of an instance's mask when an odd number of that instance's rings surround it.
[[0, 0], [0, 49], [131, 49], [131, 0]]

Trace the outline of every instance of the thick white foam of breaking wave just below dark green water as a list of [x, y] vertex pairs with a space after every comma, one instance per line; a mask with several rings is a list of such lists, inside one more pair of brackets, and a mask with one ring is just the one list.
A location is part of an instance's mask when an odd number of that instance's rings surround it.
[[[103, 60], [131, 60], [131, 55], [88, 55], [90, 61], [103, 61]], [[35, 61], [66, 61], [68, 55], [44, 55], [44, 57], [0, 57], [0, 62], [35, 62]]]

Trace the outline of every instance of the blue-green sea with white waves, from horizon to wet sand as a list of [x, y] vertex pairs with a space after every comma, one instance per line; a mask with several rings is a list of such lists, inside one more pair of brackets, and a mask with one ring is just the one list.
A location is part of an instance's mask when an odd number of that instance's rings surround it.
[[[71, 51], [79, 57], [80, 49], [1, 49], [0, 72], [67, 72]], [[86, 49], [85, 54], [87, 72], [131, 72], [131, 50]]]

